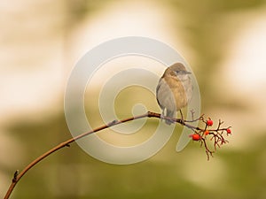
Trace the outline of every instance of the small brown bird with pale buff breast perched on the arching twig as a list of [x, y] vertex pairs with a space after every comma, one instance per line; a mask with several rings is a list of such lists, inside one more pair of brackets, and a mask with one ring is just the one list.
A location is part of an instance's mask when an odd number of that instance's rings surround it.
[[[156, 88], [156, 98], [161, 109], [161, 118], [174, 118], [177, 111], [181, 111], [192, 99], [191, 72], [188, 72], [182, 63], [168, 66], [161, 76]], [[173, 120], [165, 119], [171, 125]]]

